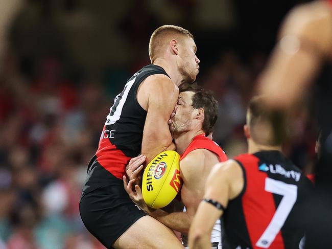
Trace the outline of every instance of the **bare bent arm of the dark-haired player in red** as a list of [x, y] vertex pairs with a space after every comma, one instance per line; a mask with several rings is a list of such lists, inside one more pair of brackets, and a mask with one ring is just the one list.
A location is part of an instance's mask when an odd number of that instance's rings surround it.
[[195, 211], [204, 194], [202, 191], [204, 183], [201, 183], [202, 180], [205, 180], [201, 177], [203, 167], [204, 152], [201, 149], [190, 152], [180, 162], [180, 172], [183, 180], [182, 188], [186, 189], [186, 198], [191, 201], [191, 209], [187, 209], [187, 212], [174, 213], [167, 213], [161, 209], [157, 209], [150, 212], [150, 215], [167, 227], [187, 234], [194, 218]]

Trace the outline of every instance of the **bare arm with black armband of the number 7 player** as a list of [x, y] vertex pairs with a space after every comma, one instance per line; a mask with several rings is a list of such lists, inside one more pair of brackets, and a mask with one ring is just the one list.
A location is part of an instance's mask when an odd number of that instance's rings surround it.
[[235, 161], [228, 160], [214, 166], [206, 180], [204, 200], [189, 230], [189, 248], [211, 247], [211, 231], [216, 220], [223, 214], [228, 201], [241, 193], [243, 185], [243, 172]]

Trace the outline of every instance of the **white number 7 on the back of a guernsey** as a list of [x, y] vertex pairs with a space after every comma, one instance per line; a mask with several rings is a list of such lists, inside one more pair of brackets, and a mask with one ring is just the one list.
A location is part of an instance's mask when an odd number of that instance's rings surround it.
[[281, 230], [296, 202], [297, 186], [294, 184], [286, 184], [280, 180], [274, 180], [267, 177], [265, 179], [265, 191], [273, 194], [279, 194], [283, 197], [272, 217], [270, 224], [256, 242], [256, 246], [262, 248], [268, 248]]

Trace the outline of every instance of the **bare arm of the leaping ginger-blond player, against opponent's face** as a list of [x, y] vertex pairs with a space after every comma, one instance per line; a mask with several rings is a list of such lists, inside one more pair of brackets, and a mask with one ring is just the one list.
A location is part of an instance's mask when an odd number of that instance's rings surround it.
[[[142, 154], [150, 162], [157, 154], [175, 149], [168, 120], [179, 98], [178, 87], [165, 75], [152, 75], [141, 90], [148, 93], [148, 113], [143, 130]], [[172, 146], [173, 145], [173, 146]]]

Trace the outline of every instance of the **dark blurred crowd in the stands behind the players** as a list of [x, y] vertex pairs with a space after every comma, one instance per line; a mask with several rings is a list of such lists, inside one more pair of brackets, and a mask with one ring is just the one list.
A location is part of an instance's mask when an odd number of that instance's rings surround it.
[[[197, 81], [219, 101], [214, 140], [229, 157], [246, 152], [246, 104], [281, 18], [301, 1], [242, 2], [24, 2], [0, 63], [0, 249], [104, 248], [79, 216], [87, 163], [114, 96], [150, 63], [160, 25], [194, 34]], [[310, 172], [317, 127], [304, 107], [284, 152]]]

